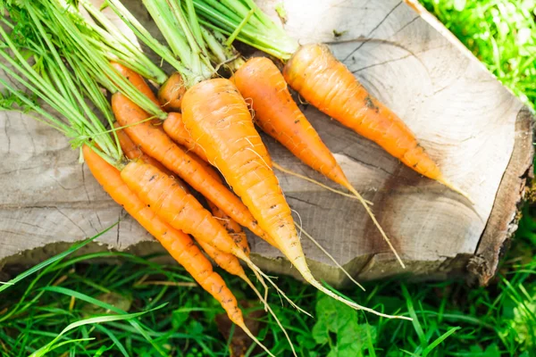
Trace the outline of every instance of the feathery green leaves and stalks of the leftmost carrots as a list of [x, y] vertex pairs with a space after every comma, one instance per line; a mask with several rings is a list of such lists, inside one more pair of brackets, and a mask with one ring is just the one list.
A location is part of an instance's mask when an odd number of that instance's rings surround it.
[[[16, 98], [18, 106], [15, 110], [37, 114], [37, 120], [69, 137], [74, 148], [83, 144], [98, 147], [97, 153], [107, 162], [120, 164], [121, 149], [113, 137], [103, 135], [105, 125], [88, 104], [88, 100], [94, 102], [108, 123], [112, 122], [113, 117], [109, 111], [106, 112], [105, 97], [96, 81], [83, 66], [72, 66], [78, 57], [71, 56], [70, 44], [50, 36], [39, 17], [39, 9], [28, 7], [17, 10], [20, 11], [18, 15], [29, 21], [24, 26], [19, 22], [15, 33], [8, 34], [0, 27], [0, 57], [4, 60], [0, 61], [0, 69], [12, 79], [0, 79], [7, 92], [4, 100]], [[15, 14], [16, 11], [10, 13]], [[15, 29], [12, 22], [4, 19], [4, 23]], [[28, 39], [21, 39], [21, 34], [27, 35]], [[73, 76], [71, 71], [75, 71], [77, 76]], [[4, 104], [9, 104], [9, 101]], [[4, 109], [13, 110], [12, 107]], [[64, 120], [58, 119], [57, 114]]]

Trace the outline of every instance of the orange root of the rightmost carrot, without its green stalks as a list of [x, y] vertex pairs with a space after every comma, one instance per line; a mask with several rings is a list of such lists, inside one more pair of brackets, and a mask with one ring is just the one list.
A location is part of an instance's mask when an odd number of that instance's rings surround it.
[[373, 140], [423, 176], [452, 187], [406, 124], [370, 95], [328, 46], [301, 46], [285, 65], [283, 76], [320, 111]]

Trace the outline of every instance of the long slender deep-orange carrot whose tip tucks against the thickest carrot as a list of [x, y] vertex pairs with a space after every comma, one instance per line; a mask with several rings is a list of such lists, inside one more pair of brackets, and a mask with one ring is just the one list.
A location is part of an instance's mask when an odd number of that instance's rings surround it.
[[133, 104], [126, 96], [116, 93], [112, 96], [112, 109], [115, 119], [121, 124], [141, 150], [162, 162], [163, 166], [172, 170], [180, 178], [195, 188], [199, 193], [217, 204], [233, 220], [242, 226], [249, 228], [255, 235], [264, 237], [265, 233], [260, 229], [246, 206], [233, 195], [227, 187], [224, 187], [216, 179], [212, 178], [206, 170], [195, 160], [192, 160], [184, 150], [172, 142], [160, 128], [160, 120], [143, 121], [149, 115], [138, 105]]

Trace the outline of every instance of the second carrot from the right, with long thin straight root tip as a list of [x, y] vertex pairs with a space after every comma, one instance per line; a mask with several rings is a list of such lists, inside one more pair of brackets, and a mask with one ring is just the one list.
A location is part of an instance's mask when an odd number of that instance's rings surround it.
[[[287, 147], [302, 162], [356, 195], [400, 265], [405, 267], [364, 198], [350, 184], [330, 149], [297, 107], [275, 64], [266, 57], [252, 58], [235, 72], [232, 81], [240, 94], [247, 98], [255, 111], [255, 123], [266, 134]], [[281, 168], [277, 164], [274, 167]]]

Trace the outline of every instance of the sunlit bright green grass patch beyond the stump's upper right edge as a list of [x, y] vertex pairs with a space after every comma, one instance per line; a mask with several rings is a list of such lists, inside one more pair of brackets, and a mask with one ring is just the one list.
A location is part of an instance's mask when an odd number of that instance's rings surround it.
[[421, 0], [532, 109], [536, 103], [536, 0]]

